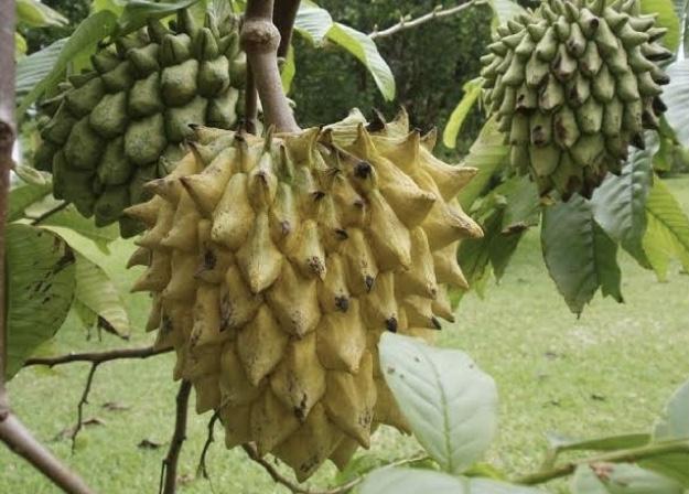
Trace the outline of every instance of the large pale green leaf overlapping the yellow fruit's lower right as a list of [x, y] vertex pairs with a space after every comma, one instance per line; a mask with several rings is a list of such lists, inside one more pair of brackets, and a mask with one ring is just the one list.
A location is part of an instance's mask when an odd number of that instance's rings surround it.
[[463, 352], [386, 333], [380, 368], [415, 436], [450, 473], [480, 460], [497, 431], [497, 388]]

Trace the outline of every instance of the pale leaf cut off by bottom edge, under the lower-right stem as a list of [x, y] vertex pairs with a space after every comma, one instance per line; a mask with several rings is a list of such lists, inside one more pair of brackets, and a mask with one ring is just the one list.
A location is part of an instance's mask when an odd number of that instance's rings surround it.
[[581, 465], [571, 482], [572, 494], [682, 494], [666, 476], [628, 463]]

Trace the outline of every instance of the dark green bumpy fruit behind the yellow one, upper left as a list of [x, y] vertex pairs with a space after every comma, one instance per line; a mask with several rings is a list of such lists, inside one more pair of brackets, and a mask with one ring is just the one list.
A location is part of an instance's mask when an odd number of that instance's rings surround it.
[[246, 55], [238, 21], [182, 10], [170, 28], [120, 36], [91, 56], [90, 69], [44, 101], [35, 167], [53, 173], [54, 194], [122, 236], [142, 225], [121, 212], [147, 200], [142, 185], [169, 173], [185, 151], [190, 125], [230, 129], [241, 111]]

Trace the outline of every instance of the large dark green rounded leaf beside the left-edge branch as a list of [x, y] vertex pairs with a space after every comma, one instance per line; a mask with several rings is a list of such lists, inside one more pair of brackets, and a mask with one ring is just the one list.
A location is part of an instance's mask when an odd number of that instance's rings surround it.
[[13, 223], [7, 227], [8, 362], [13, 376], [51, 339], [74, 298], [74, 254], [55, 235]]

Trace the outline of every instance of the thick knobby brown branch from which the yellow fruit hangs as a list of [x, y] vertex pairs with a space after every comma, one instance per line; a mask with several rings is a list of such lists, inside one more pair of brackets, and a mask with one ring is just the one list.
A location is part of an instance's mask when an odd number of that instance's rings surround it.
[[272, 23], [272, 11], [273, 0], [248, 1], [241, 26], [241, 47], [261, 99], [266, 126], [273, 125], [279, 132], [297, 132], [300, 128], [282, 92], [278, 69], [280, 32]]

